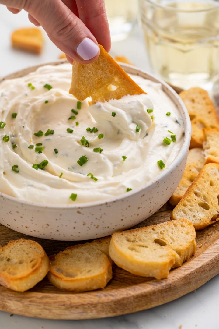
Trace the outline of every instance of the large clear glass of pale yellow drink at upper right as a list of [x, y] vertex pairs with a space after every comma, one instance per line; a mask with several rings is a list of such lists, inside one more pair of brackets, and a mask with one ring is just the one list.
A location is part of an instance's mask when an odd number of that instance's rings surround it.
[[155, 73], [211, 91], [219, 79], [219, 0], [140, 0], [140, 11]]

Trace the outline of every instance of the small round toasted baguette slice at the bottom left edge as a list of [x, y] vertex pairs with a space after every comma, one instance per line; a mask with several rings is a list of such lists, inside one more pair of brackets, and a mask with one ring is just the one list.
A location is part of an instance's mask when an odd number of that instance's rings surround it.
[[0, 284], [15, 291], [33, 288], [49, 271], [42, 246], [32, 240], [12, 240], [0, 247]]

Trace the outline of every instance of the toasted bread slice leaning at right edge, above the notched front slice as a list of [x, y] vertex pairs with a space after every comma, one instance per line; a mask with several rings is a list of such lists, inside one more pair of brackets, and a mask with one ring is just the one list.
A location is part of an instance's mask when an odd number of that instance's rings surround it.
[[192, 222], [196, 230], [215, 223], [219, 214], [219, 164], [206, 164], [192, 182], [171, 219], [182, 216]]

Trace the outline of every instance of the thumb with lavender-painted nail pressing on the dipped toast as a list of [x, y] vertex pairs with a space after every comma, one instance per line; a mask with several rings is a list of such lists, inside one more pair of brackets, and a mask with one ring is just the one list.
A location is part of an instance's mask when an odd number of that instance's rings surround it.
[[61, 0], [27, 1], [24, 9], [39, 22], [71, 63], [72, 60], [91, 63], [98, 58], [97, 40]]

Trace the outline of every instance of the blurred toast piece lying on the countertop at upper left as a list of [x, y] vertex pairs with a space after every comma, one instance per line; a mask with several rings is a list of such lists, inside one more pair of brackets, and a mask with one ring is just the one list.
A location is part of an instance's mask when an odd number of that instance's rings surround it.
[[12, 47], [40, 54], [43, 48], [43, 34], [36, 27], [27, 27], [14, 31], [11, 35]]

